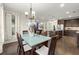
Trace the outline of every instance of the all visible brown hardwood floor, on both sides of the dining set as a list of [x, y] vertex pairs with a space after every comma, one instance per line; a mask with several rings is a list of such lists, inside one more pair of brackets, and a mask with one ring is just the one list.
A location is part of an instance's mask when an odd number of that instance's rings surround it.
[[[73, 44], [71, 43], [73, 42]], [[5, 44], [4, 52], [2, 55], [17, 55], [17, 42]], [[79, 55], [79, 49], [75, 47], [74, 41], [71, 38], [64, 36], [62, 39], [58, 40], [56, 50], [56, 55]]]

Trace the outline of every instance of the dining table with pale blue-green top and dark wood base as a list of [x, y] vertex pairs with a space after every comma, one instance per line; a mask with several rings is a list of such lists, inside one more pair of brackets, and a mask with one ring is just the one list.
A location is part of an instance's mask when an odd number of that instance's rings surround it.
[[43, 35], [39, 35], [39, 34], [33, 34], [33, 36], [29, 35], [29, 33], [25, 33], [22, 35], [22, 39], [24, 39], [24, 41], [30, 46], [32, 47], [32, 54], [34, 52], [34, 49], [46, 42], [46, 41], [50, 41], [51, 37], [48, 36], [43, 36]]

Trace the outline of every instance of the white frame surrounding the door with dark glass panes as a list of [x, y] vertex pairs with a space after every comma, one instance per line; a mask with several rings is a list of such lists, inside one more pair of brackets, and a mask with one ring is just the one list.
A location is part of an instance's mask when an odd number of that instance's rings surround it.
[[[7, 30], [6, 29], [6, 24], [7, 24], [6, 23], [6, 15], [7, 14], [15, 15], [15, 35], [13, 35], [10, 40], [7, 38], [7, 32], [6, 32], [6, 30]], [[5, 39], [4, 39], [4, 44], [17, 41], [16, 32], [18, 32], [18, 25], [19, 25], [19, 16], [18, 16], [18, 14], [14, 13], [12, 11], [5, 11]]]

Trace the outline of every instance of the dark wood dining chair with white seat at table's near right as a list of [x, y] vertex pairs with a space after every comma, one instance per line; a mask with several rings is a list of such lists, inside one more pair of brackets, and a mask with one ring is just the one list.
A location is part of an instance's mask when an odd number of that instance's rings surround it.
[[54, 55], [57, 40], [58, 40], [58, 36], [57, 35], [53, 36], [50, 40], [49, 47], [46, 47], [45, 45], [43, 45], [41, 48], [37, 49], [35, 52], [38, 55]]

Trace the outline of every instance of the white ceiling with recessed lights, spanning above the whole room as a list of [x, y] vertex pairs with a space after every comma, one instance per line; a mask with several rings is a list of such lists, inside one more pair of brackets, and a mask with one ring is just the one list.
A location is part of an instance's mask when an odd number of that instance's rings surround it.
[[[60, 7], [61, 3], [32, 3], [33, 11], [36, 18], [40, 19], [63, 19], [79, 16], [79, 3], [64, 3], [64, 7]], [[30, 3], [5, 3], [6, 10], [12, 10], [24, 14], [30, 10]], [[66, 12], [69, 11], [69, 14]], [[69, 15], [71, 17], [69, 17]]]

